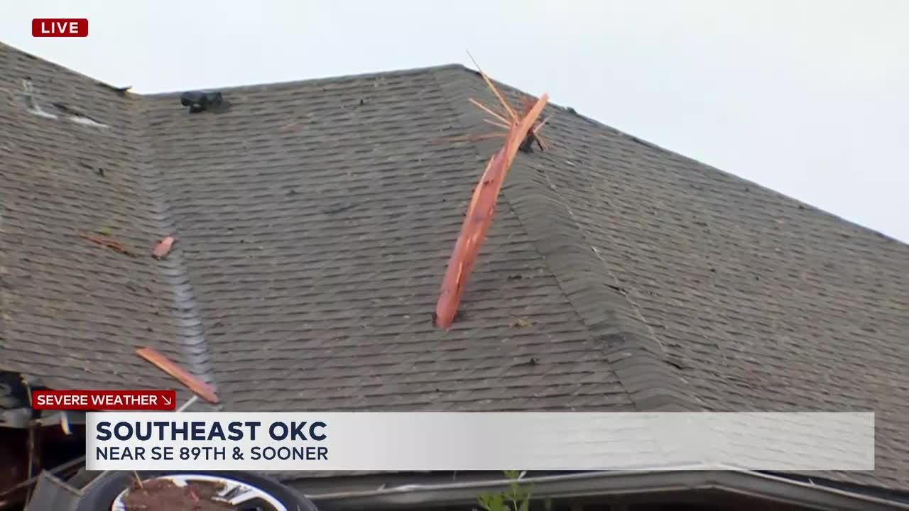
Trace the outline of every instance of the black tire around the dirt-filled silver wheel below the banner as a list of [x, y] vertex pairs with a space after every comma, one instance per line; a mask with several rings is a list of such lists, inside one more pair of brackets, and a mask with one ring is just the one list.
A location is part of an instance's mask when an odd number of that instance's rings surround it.
[[[234, 479], [235, 481], [245, 483], [249, 486], [255, 486], [270, 496], [275, 497], [275, 499], [285, 506], [288, 511], [318, 511], [318, 508], [311, 500], [302, 496], [294, 489], [282, 485], [270, 477], [250, 474], [248, 472], [174, 470], [138, 473], [139, 477], [144, 481], [160, 476], [177, 476], [181, 474]], [[111, 472], [96, 478], [83, 489], [83, 497], [79, 499], [79, 504], [75, 507], [75, 511], [110, 511], [111, 505], [114, 503], [116, 497], [125, 489], [132, 486], [134, 481], [135, 476], [132, 472]], [[242, 507], [240, 509], [242, 509]]]

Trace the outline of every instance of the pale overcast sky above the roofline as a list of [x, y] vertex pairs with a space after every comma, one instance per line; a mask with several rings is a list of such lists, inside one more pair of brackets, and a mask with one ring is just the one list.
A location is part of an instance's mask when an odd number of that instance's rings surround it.
[[[35, 39], [34, 17], [85, 17]], [[909, 242], [909, 1], [0, 0], [0, 40], [151, 93], [471, 53], [632, 135]]]

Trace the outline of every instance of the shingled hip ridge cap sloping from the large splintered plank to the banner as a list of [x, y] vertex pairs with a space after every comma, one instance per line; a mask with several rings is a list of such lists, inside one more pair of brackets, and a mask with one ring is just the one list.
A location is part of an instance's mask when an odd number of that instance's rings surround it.
[[[467, 68], [464, 70], [471, 73], [464, 74], [465, 78], [470, 76], [478, 86], [485, 86], [475, 72]], [[464, 101], [459, 101], [462, 99], [459, 96], [469, 90], [469, 85], [463, 85], [458, 90], [456, 87], [461, 85], [443, 80], [438, 75], [435, 78], [449, 97], [461, 124], [464, 127], [481, 125], [481, 115], [466, 105], [466, 97]], [[507, 85], [506, 88], [517, 91]], [[491, 95], [488, 97], [492, 99]], [[474, 147], [479, 155], [490, 153], [496, 144], [484, 142]], [[532, 172], [534, 170], [536, 173]], [[666, 361], [667, 356], [659, 339], [644, 322], [631, 298], [618, 286], [602, 280], [605, 274], [618, 283], [596, 254], [594, 245], [586, 240], [571, 208], [564, 203], [554, 185], [541, 185], [534, 174], [542, 175], [549, 183], [544, 169], [534, 168], [524, 158], [516, 159], [501, 199], [508, 202], [524, 225], [537, 252], [544, 257], [544, 264], [549, 267], [584, 327], [594, 340], [604, 346], [610, 366], [634, 406], [641, 411], [703, 409], [687, 382]]]

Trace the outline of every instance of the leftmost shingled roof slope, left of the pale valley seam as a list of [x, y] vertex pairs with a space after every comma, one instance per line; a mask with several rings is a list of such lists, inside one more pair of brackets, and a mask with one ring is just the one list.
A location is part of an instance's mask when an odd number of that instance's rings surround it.
[[[25, 77], [56, 119], [22, 101]], [[163, 386], [139, 345], [205, 373], [173, 284], [185, 277], [171, 257], [152, 257], [173, 231], [151, 192], [136, 101], [0, 45], [0, 369], [52, 388]]]

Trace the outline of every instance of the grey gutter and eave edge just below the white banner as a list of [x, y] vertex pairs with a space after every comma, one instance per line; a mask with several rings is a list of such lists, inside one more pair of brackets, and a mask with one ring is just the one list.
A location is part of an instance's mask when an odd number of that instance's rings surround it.
[[[301, 489], [308, 492], [307, 496], [320, 509], [402, 510], [470, 506], [476, 503], [477, 495], [507, 491], [511, 482], [503, 479], [501, 473], [490, 475], [483, 472], [436, 473], [433, 476], [411, 474], [400, 476], [397, 481], [392, 479], [393, 476], [386, 475], [370, 481], [345, 477], [335, 481], [335, 487], [305, 486]], [[874, 492], [867, 492], [864, 486], [860, 488], [864, 492], [856, 492], [849, 486], [824, 486], [815, 484], [813, 480], [734, 468], [717, 470], [714, 467], [692, 466], [670, 472], [619, 470], [528, 474], [521, 481], [524, 487], [533, 488], [535, 497], [553, 499], [561, 504], [567, 499], [593, 501], [599, 506], [627, 506], [629, 502], [632, 505], [652, 504], [654, 501], [691, 504], [693, 500], [695, 503], [700, 500], [720, 509], [909, 509], [909, 501], [904, 496], [875, 495]], [[318, 485], [326, 480], [312, 482]], [[380, 482], [383, 483], [381, 486]], [[700, 499], [694, 496], [700, 496]], [[731, 501], [730, 496], [734, 496]]]

